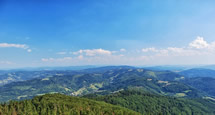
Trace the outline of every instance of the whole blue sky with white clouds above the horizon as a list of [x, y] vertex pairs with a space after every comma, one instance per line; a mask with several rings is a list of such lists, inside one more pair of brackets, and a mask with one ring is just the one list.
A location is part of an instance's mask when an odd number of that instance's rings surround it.
[[0, 0], [0, 68], [215, 64], [214, 0]]

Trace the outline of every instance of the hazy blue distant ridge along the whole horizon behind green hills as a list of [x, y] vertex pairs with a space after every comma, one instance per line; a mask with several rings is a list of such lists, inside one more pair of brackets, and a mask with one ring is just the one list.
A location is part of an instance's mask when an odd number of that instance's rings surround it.
[[[49, 75], [45, 76], [53, 76], [54, 72], [65, 72], [65, 71], [79, 71], [79, 72], [104, 72], [110, 69], [117, 68], [127, 68], [134, 69], [140, 67], [132, 67], [132, 66], [68, 66], [68, 67], [42, 67], [42, 68], [23, 68], [23, 69], [14, 69], [14, 70], [1, 70], [0, 71], [0, 85], [5, 85], [11, 82], [17, 81], [25, 81], [31, 80], [37, 77], [44, 76], [42, 74], [46, 74], [48, 72]], [[152, 70], [152, 71], [173, 71], [177, 72], [185, 77], [214, 77], [215, 70], [205, 69], [205, 68], [193, 68], [187, 69], [190, 66], [152, 66], [152, 67], [144, 67], [144, 69]], [[53, 72], [53, 74], [51, 74]], [[32, 73], [30, 75], [29, 73]], [[35, 74], [36, 73], [36, 74]]]

